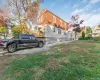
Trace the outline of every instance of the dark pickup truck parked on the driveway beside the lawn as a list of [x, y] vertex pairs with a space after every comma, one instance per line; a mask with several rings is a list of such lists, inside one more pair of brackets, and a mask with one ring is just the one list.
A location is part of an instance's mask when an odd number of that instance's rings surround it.
[[44, 41], [36, 38], [33, 35], [21, 34], [18, 38], [8, 40], [4, 49], [8, 52], [15, 52], [18, 48], [22, 47], [43, 47]]

